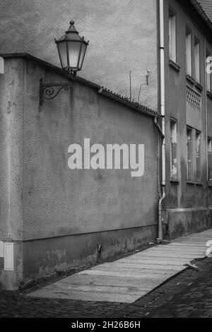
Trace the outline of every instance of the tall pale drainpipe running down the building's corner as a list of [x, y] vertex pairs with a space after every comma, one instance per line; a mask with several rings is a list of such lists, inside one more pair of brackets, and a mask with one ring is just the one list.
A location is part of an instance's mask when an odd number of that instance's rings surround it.
[[162, 194], [158, 202], [158, 242], [163, 241], [162, 210], [165, 199], [165, 56], [164, 56], [164, 0], [159, 0], [160, 12], [160, 114], [162, 117], [162, 146], [161, 146], [161, 186]]

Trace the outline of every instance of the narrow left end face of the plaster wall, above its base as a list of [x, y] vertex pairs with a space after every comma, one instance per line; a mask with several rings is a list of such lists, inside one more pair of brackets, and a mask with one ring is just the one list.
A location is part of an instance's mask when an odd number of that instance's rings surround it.
[[0, 74], [0, 239], [22, 239], [23, 61]]

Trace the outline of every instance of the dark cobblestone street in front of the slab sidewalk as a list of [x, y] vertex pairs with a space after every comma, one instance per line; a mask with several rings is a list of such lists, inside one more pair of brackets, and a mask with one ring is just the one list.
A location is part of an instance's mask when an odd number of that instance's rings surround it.
[[[196, 262], [133, 304], [26, 297], [0, 292], [0, 316], [68, 318], [212, 317], [212, 259]], [[37, 286], [40, 287], [40, 286]]]

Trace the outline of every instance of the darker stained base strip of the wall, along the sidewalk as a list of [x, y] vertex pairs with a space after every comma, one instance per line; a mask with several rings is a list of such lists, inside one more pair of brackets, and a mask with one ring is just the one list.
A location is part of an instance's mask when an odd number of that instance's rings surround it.
[[[23, 281], [55, 271], [86, 268], [148, 244], [157, 237], [157, 225], [125, 230], [52, 237], [23, 242]], [[101, 247], [100, 254], [97, 251]]]

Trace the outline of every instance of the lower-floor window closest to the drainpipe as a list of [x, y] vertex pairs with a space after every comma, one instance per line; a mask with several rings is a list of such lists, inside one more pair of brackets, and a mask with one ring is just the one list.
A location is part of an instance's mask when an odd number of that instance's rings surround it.
[[170, 177], [177, 179], [177, 121], [170, 121]]

